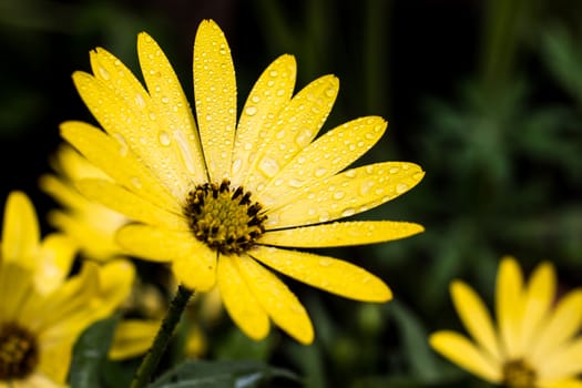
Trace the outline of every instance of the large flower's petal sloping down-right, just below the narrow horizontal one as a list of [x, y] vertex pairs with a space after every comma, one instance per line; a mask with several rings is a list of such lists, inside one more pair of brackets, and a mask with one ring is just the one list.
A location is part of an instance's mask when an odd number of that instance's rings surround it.
[[257, 247], [249, 254], [287, 276], [328, 293], [365, 302], [387, 302], [392, 297], [382, 280], [348, 262], [270, 247]]

